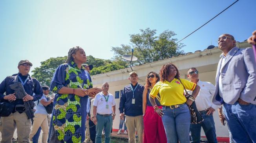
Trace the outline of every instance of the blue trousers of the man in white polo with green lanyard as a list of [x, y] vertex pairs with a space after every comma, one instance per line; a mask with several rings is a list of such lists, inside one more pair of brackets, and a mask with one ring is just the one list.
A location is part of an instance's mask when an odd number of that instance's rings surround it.
[[101, 116], [97, 114], [97, 125], [96, 125], [96, 138], [95, 143], [101, 143], [102, 130], [105, 128], [105, 141], [104, 143], [110, 143], [110, 131], [113, 125], [112, 116]]

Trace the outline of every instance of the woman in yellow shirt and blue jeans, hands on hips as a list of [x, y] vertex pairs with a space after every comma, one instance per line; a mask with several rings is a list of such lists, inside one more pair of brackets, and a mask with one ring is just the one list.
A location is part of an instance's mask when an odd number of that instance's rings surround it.
[[[160, 81], [151, 90], [149, 100], [155, 112], [162, 117], [167, 142], [177, 143], [179, 140], [180, 143], [190, 143], [190, 112], [188, 106], [193, 101], [187, 100], [184, 96], [184, 87], [193, 91], [192, 96], [194, 98], [199, 93], [200, 87], [188, 80], [180, 79], [179, 70], [172, 63], [163, 65], [159, 75]], [[163, 109], [159, 109], [154, 100], [158, 93], [161, 97]]]

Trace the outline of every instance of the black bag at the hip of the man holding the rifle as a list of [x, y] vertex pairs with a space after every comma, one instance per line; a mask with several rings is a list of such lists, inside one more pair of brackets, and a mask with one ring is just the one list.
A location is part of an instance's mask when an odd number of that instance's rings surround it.
[[10, 103], [8, 100], [3, 100], [0, 102], [0, 116], [1, 117], [7, 117], [15, 108], [15, 104]]

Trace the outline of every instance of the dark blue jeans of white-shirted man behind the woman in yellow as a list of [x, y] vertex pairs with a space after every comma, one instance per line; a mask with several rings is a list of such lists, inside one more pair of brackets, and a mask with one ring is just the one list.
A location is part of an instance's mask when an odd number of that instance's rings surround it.
[[190, 124], [192, 143], [200, 143], [201, 127], [203, 127], [207, 141], [209, 143], [217, 143], [215, 123], [212, 114], [207, 115], [207, 111], [200, 111], [200, 113], [204, 121], [197, 124]]

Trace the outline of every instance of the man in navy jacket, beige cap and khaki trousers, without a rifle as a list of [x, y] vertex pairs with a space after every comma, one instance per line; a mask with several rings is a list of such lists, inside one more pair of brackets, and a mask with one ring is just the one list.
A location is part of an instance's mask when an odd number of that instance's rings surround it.
[[138, 74], [135, 71], [129, 74], [130, 84], [124, 87], [119, 104], [122, 120], [124, 119], [124, 112], [126, 114], [125, 123], [128, 129], [129, 143], [135, 143], [136, 130], [138, 143], [142, 143], [143, 140], [142, 94], [144, 86], [138, 84], [138, 79]]

